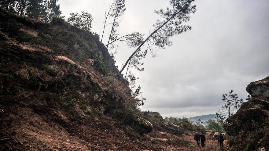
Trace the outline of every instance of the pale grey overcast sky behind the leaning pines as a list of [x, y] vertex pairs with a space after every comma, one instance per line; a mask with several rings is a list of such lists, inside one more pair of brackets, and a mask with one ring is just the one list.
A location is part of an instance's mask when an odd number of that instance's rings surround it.
[[[125, 0], [126, 11], [118, 27], [124, 35], [149, 33], [169, 0]], [[92, 31], [102, 33], [105, 11], [113, 0], [59, 0], [66, 17], [87, 11], [93, 16]], [[246, 86], [269, 76], [269, 1], [196, 0], [197, 12], [186, 24], [192, 30], [171, 38], [173, 45], [160, 49], [157, 57], [143, 60], [140, 77], [146, 97], [142, 110], [163, 116], [193, 117], [215, 114], [223, 105], [222, 94], [230, 89], [240, 98]], [[111, 27], [107, 26], [104, 41]], [[116, 65], [121, 67], [135, 50], [119, 44]], [[145, 47], [144, 47], [145, 48]], [[145, 48], [146, 49], [146, 48]], [[155, 49], [157, 50], [157, 49]]]

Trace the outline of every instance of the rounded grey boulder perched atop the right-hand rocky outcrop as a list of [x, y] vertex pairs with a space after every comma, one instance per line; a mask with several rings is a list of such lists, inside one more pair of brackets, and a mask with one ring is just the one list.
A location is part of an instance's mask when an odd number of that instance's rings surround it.
[[246, 91], [253, 97], [267, 97], [269, 98], [269, 77], [262, 80], [251, 82]]

